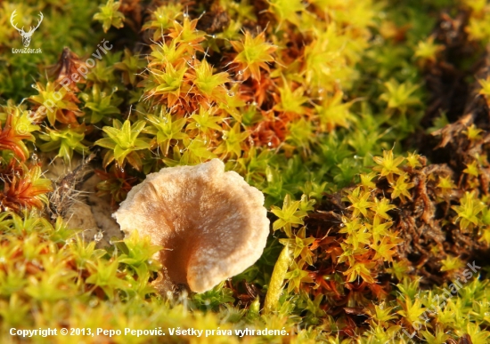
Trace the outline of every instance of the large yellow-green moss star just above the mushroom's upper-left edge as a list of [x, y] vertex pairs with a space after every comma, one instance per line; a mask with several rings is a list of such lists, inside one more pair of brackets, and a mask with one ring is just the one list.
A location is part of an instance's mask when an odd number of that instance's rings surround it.
[[129, 120], [122, 124], [115, 119], [113, 126], [104, 126], [102, 128], [102, 131], [109, 137], [95, 141], [94, 145], [109, 149], [103, 159], [104, 167], [113, 160], [116, 160], [119, 166], [123, 167], [127, 160], [136, 170], [141, 169], [142, 161], [136, 151], [150, 148], [150, 139], [138, 139], [145, 124], [146, 122], [144, 121], [138, 121], [132, 125]]

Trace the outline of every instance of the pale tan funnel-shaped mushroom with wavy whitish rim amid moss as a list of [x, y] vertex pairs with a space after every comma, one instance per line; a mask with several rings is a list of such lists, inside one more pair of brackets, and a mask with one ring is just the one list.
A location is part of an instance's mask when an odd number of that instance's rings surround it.
[[176, 284], [206, 292], [249, 268], [264, 251], [266, 215], [264, 195], [219, 159], [147, 175], [112, 214], [126, 236], [138, 230], [164, 247], [155, 255], [159, 292]]

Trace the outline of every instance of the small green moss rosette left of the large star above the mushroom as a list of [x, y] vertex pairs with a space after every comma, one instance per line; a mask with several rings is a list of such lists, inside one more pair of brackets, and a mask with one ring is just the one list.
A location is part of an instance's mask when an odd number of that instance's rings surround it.
[[60, 130], [46, 128], [46, 132], [41, 133], [39, 139], [47, 142], [39, 144], [38, 147], [43, 152], [59, 149], [57, 156], [62, 157], [65, 164], [69, 165], [74, 150], [79, 154], [84, 154], [88, 151], [88, 147], [83, 144], [85, 132], [85, 124], [73, 127], [69, 125]]

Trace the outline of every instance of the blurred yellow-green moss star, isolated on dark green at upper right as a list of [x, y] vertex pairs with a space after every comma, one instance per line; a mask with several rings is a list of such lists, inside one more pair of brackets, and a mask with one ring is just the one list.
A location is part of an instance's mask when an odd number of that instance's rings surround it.
[[398, 84], [395, 79], [384, 83], [387, 91], [382, 93], [380, 100], [384, 100], [388, 103], [388, 108], [399, 109], [405, 112], [406, 109], [412, 105], [420, 104], [419, 97], [413, 95], [413, 92], [417, 91], [419, 85], [412, 84], [407, 81], [404, 84]]

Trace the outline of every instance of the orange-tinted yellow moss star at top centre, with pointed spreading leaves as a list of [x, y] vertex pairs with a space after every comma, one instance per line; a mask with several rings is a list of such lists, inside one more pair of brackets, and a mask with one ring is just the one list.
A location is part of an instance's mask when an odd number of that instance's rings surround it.
[[230, 43], [238, 52], [233, 62], [242, 71], [244, 79], [252, 76], [252, 78], [260, 80], [260, 68], [266, 71], [270, 70], [266, 62], [274, 62], [272, 53], [275, 52], [276, 47], [265, 42], [265, 32], [253, 37], [249, 31], [246, 31], [243, 42], [232, 41]]

